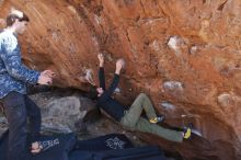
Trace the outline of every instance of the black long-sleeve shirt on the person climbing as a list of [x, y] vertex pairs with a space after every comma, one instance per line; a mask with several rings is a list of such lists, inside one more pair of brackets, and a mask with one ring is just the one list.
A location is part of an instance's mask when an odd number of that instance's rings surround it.
[[107, 90], [105, 90], [104, 68], [100, 67], [99, 81], [100, 88], [104, 90], [104, 93], [97, 99], [97, 107], [103, 108], [108, 115], [111, 115], [114, 119], [119, 122], [124, 116], [124, 105], [122, 105], [118, 101], [112, 98], [113, 92], [118, 85], [119, 76], [115, 73], [112, 84]]

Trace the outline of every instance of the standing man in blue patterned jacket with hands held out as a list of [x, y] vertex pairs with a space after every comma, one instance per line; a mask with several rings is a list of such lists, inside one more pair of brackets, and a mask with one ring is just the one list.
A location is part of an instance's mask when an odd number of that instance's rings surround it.
[[32, 139], [41, 129], [41, 111], [26, 95], [26, 83], [50, 84], [55, 76], [51, 70], [31, 70], [21, 61], [18, 34], [24, 33], [28, 22], [25, 13], [12, 9], [0, 33], [0, 101], [9, 123], [8, 160], [24, 159], [27, 118]]

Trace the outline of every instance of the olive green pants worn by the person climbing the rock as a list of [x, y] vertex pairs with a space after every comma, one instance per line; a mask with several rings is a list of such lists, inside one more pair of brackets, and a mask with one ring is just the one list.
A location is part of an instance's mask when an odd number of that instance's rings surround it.
[[130, 108], [120, 119], [120, 124], [130, 130], [151, 133], [171, 141], [183, 141], [182, 132], [163, 128], [157, 124], [151, 124], [146, 118], [140, 117], [142, 110], [145, 110], [149, 119], [157, 117], [153, 105], [145, 93], [140, 93], [137, 96]]

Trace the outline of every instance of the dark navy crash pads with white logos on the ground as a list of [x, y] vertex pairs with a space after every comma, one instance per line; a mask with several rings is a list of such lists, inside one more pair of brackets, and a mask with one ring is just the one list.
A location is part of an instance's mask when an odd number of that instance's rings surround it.
[[[7, 160], [8, 132], [0, 138], [0, 160]], [[111, 134], [78, 140], [73, 134], [41, 136], [36, 140], [47, 146], [38, 155], [26, 153], [24, 160], [167, 160], [158, 147], [135, 148], [128, 138]]]

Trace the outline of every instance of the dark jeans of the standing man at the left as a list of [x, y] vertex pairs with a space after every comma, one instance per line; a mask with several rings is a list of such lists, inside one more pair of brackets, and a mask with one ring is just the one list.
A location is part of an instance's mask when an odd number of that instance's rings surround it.
[[34, 139], [41, 130], [41, 111], [27, 95], [19, 92], [10, 92], [1, 99], [1, 103], [9, 123], [8, 160], [24, 160], [27, 122]]

